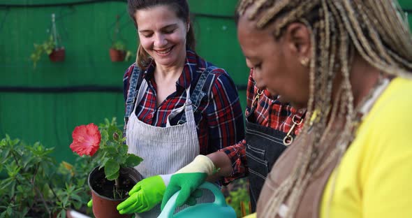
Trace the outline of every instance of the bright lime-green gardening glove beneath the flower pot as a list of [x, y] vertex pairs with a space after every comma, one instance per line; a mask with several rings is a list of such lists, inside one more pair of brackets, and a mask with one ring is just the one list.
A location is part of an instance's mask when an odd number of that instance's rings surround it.
[[161, 202], [165, 189], [166, 184], [161, 175], [147, 177], [135, 184], [128, 192], [130, 197], [117, 205], [117, 210], [121, 215], [151, 210]]

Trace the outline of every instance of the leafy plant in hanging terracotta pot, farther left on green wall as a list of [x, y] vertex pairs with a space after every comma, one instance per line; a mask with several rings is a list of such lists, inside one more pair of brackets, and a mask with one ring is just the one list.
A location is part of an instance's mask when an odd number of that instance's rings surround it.
[[65, 50], [64, 47], [57, 47], [54, 37], [50, 35], [47, 41], [44, 41], [42, 44], [34, 44], [34, 51], [30, 55], [31, 61], [33, 61], [33, 66], [36, 68], [37, 62], [41, 57], [47, 54], [50, 61], [64, 61]]

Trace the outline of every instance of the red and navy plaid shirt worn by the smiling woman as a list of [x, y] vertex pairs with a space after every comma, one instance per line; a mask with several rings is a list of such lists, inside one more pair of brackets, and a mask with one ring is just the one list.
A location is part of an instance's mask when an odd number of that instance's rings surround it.
[[[149, 86], [142, 101], [138, 104], [135, 114], [142, 122], [152, 126], [165, 127], [170, 112], [182, 107], [186, 102], [186, 88], [190, 93], [196, 87], [201, 73], [211, 64], [199, 57], [195, 52], [187, 50], [186, 64], [182, 75], [176, 82], [176, 92], [170, 94], [160, 106], [156, 107], [156, 82], [154, 80], [154, 61], [142, 77]], [[130, 66], [124, 74], [124, 99], [128, 94], [129, 78], [135, 68]], [[233, 145], [244, 138], [244, 119], [239, 96], [233, 80], [222, 68], [212, 72], [212, 80], [206, 80], [207, 97], [205, 97], [195, 113], [196, 129], [200, 144], [200, 154], [209, 154]], [[138, 87], [140, 84], [138, 84]], [[138, 88], [137, 87], [137, 88]], [[205, 89], [203, 89], [205, 91]], [[184, 111], [170, 120], [170, 125], [176, 125]]]

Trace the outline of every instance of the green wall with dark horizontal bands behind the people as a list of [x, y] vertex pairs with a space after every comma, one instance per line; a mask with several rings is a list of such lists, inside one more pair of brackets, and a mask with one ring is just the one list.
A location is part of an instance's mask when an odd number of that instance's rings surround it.
[[[75, 126], [100, 123], [105, 117], [117, 117], [118, 123], [123, 123], [122, 75], [135, 57], [125, 62], [110, 61], [108, 50], [117, 15], [119, 38], [133, 53], [137, 45], [126, 1], [71, 5], [75, 2], [80, 1], [0, 0], [0, 138], [8, 133], [27, 143], [40, 141], [56, 148], [58, 160], [71, 162], [75, 155], [68, 145]], [[65, 5], [40, 6], [50, 3]], [[197, 52], [226, 68], [237, 85], [246, 85], [249, 71], [232, 19], [237, 1], [189, 3]], [[53, 63], [43, 56], [34, 69], [29, 56], [33, 44], [42, 43], [50, 35], [52, 13], [56, 14], [66, 59]], [[242, 91], [240, 98], [244, 104]]]

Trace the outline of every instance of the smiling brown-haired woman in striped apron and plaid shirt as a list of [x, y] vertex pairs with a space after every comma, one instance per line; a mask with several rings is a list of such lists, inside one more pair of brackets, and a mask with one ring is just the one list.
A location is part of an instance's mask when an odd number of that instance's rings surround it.
[[[243, 116], [228, 73], [194, 50], [186, 0], [129, 0], [128, 13], [140, 45], [124, 75], [124, 133], [128, 152], [145, 160], [136, 169], [149, 178], [117, 209], [157, 217], [170, 174], [244, 138]], [[200, 202], [213, 199], [209, 191]]]

